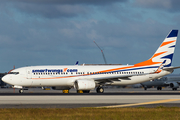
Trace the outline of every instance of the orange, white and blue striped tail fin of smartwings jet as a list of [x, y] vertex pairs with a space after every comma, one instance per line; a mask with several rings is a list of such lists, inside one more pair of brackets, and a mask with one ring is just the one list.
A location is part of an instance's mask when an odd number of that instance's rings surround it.
[[171, 30], [168, 36], [164, 39], [154, 55], [147, 61], [135, 64], [136, 66], [147, 66], [164, 63], [164, 67], [171, 66], [174, 49], [176, 45], [178, 30]]

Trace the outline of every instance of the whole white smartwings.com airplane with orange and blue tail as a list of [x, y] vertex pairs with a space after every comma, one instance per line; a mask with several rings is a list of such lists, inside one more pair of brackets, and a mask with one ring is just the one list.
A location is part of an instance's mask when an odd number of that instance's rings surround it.
[[12, 70], [2, 80], [23, 93], [25, 87], [53, 86], [58, 90], [89, 93], [96, 89], [103, 93], [103, 86], [131, 85], [171, 74], [171, 66], [178, 30], [171, 30], [154, 55], [134, 65], [54, 65], [29, 66]]

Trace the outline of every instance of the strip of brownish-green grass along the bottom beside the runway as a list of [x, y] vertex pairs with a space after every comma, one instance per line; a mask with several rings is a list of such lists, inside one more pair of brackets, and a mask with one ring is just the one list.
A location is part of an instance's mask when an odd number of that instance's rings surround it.
[[180, 108], [5, 108], [2, 120], [180, 120]]

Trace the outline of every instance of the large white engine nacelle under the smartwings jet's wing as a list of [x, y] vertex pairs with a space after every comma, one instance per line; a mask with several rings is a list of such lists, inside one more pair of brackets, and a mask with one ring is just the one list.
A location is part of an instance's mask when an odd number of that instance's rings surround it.
[[74, 88], [77, 90], [92, 90], [96, 86], [94, 80], [76, 80]]

